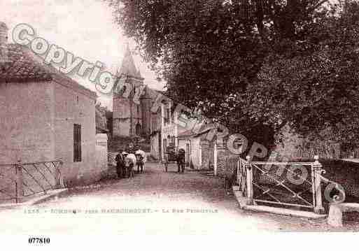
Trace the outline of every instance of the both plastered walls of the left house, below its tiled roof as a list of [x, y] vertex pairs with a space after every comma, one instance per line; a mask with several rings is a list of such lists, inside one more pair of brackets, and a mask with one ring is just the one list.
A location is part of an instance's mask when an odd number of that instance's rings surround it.
[[[57, 80], [1, 83], [0, 92], [0, 164], [61, 159], [66, 185], [101, 178], [101, 169], [95, 165], [94, 93]], [[73, 162], [73, 124], [81, 126], [82, 160], [76, 163]], [[41, 175], [34, 166], [28, 168], [34, 176]], [[14, 172], [3, 166], [0, 171], [6, 177], [12, 177]], [[36, 177], [50, 182], [53, 179], [50, 174]], [[36, 185], [31, 177], [25, 176], [24, 180], [30, 187]], [[6, 182], [1, 180], [1, 184]]]

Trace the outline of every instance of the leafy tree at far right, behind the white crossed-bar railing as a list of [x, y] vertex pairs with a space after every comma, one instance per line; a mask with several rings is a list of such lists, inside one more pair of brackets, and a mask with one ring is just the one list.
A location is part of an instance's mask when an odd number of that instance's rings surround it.
[[[359, 4], [332, 8], [291, 55], [271, 53], [243, 99], [254, 117], [315, 140], [357, 145]], [[294, 53], [295, 52], [295, 53]]]

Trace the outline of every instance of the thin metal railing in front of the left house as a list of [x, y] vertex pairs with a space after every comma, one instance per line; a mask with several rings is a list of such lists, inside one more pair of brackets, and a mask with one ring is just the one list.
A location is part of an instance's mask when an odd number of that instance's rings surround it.
[[28, 196], [64, 187], [61, 160], [0, 164], [0, 201], [20, 203]]

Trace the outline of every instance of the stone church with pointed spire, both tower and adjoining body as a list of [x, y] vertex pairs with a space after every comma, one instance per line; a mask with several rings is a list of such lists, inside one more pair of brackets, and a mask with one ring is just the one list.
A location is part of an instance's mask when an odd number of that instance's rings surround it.
[[[127, 50], [118, 71], [120, 79], [125, 80], [125, 89], [113, 94], [113, 136], [132, 137], [150, 136], [150, 108], [153, 103], [153, 89], [143, 85], [140, 71], [136, 69], [132, 53]], [[130, 88], [128, 97], [122, 96]], [[139, 92], [139, 101], [133, 99], [134, 93]]]

